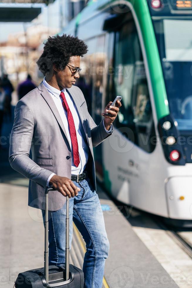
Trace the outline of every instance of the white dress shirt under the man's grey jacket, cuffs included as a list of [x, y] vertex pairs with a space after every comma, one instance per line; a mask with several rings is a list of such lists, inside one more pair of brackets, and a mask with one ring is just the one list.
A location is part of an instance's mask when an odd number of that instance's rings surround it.
[[[52, 99], [53, 99], [53, 101], [54, 101], [54, 103], [58, 109], [58, 112], [59, 112], [61, 119], [63, 121], [63, 125], [65, 127], [65, 131], [67, 133], [67, 138], [68, 138], [70, 148], [71, 148], [71, 172], [72, 172], [71, 174], [73, 174], [73, 175], [81, 174], [85, 169], [85, 165], [87, 164], [88, 154], [89, 154], [89, 146], [88, 146], [87, 139], [85, 136], [85, 131], [83, 129], [81, 120], [79, 118], [78, 110], [75, 106], [73, 98], [70, 96], [70, 94], [67, 92], [67, 90], [65, 88], [62, 90], [65, 94], [65, 98], [66, 98], [66, 101], [67, 101], [68, 106], [70, 108], [70, 111], [73, 115], [73, 120], [74, 120], [74, 124], [75, 124], [75, 130], [76, 130], [77, 141], [78, 141], [79, 158], [80, 158], [80, 163], [79, 163], [78, 167], [76, 167], [74, 165], [73, 146], [71, 144], [67, 111], [64, 109], [64, 107], [62, 105], [62, 99], [60, 97], [61, 91], [54, 88], [53, 86], [50, 86], [46, 82], [45, 77], [43, 79], [43, 84], [47, 88], [50, 96], [52, 97]], [[104, 119], [103, 119], [103, 125], [104, 125]], [[105, 125], [104, 125], [104, 128], [105, 128]], [[105, 128], [105, 130], [106, 130], [106, 128]], [[110, 127], [110, 130], [106, 130], [107, 133], [111, 133], [111, 131], [112, 131], [112, 126]], [[49, 186], [49, 180], [53, 177], [53, 175], [56, 175], [56, 174], [52, 173], [49, 176], [49, 178], [47, 180], [47, 186]]]

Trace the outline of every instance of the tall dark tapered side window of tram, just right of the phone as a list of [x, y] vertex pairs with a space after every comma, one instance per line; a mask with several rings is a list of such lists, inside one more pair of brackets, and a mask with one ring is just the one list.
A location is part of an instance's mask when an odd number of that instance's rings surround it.
[[[144, 61], [134, 20], [115, 33], [114, 93], [122, 96], [122, 106], [114, 125], [132, 129], [134, 142], [151, 153], [155, 148], [154, 123]], [[126, 134], [125, 134], [126, 135]]]

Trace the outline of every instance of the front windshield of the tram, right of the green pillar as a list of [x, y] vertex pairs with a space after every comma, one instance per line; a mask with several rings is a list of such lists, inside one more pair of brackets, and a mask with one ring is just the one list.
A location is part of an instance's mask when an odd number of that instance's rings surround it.
[[192, 19], [154, 21], [170, 113], [192, 130]]

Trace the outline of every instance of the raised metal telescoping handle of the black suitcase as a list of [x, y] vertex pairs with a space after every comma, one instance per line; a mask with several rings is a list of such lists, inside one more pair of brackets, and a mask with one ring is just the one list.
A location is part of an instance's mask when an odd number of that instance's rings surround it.
[[[46, 283], [49, 283], [49, 250], [48, 250], [48, 193], [49, 191], [55, 191], [51, 187], [47, 187], [45, 194], [45, 251], [44, 251], [44, 276]], [[69, 279], [69, 197], [66, 196], [66, 245], [65, 245], [65, 280]]]

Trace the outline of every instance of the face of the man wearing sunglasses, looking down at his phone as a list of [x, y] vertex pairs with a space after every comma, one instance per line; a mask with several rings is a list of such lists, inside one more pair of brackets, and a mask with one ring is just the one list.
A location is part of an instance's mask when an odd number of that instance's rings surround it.
[[56, 74], [60, 90], [63, 88], [71, 88], [72, 85], [75, 85], [76, 79], [79, 78], [79, 73], [75, 74], [75, 68], [72, 66], [80, 68], [80, 56], [70, 57], [70, 62], [67, 65], [64, 70]]

